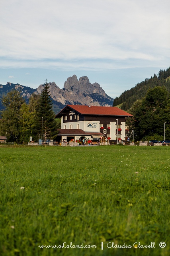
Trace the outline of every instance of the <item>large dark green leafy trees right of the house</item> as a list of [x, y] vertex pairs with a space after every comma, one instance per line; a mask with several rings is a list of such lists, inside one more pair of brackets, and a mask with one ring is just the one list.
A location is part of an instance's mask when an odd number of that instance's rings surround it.
[[170, 140], [170, 92], [155, 86], [127, 110], [133, 117], [126, 119], [131, 141]]

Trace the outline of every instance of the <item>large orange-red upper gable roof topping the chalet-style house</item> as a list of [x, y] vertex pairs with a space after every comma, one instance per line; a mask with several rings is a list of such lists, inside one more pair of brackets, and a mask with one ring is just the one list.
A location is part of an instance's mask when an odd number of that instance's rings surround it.
[[[100, 106], [84, 106], [84, 105], [67, 105], [66, 107], [71, 108], [72, 110], [77, 111], [80, 114], [87, 114], [87, 115], [101, 115], [101, 116], [133, 116], [126, 111], [117, 108], [117, 107], [100, 107]], [[65, 108], [66, 108], [65, 107]], [[65, 109], [63, 108], [63, 110]], [[59, 112], [57, 116], [61, 116]]]

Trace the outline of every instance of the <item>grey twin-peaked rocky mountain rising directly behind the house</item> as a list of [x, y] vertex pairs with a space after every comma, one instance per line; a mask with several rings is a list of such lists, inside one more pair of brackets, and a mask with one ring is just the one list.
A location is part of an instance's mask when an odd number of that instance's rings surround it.
[[[58, 105], [79, 104], [91, 106], [112, 106], [113, 99], [100, 87], [100, 84], [91, 84], [87, 76], [77, 79], [76, 75], [70, 76], [64, 82], [64, 88], [60, 89], [55, 82], [48, 83], [51, 98]], [[37, 88], [40, 94], [44, 84]]]

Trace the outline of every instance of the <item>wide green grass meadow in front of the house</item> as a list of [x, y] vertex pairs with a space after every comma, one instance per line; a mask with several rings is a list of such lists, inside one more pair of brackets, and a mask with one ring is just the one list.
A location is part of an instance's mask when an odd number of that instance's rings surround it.
[[168, 146], [2, 146], [0, 187], [0, 255], [170, 254]]

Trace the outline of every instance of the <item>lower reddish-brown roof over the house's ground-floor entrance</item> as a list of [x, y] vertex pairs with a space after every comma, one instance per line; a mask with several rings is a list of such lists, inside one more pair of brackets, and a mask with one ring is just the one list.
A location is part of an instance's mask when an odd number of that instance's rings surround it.
[[101, 132], [84, 132], [82, 129], [58, 129], [57, 135], [99, 135], [104, 136]]

